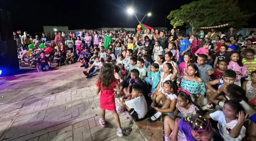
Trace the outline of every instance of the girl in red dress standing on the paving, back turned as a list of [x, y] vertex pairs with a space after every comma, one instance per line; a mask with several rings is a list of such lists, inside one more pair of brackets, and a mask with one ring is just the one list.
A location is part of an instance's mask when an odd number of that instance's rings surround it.
[[[96, 59], [95, 59], [96, 60]], [[105, 110], [111, 111], [117, 123], [118, 136], [123, 136], [122, 128], [120, 124], [120, 119], [116, 111], [115, 97], [114, 97], [114, 87], [119, 89], [118, 80], [115, 79], [113, 67], [111, 64], [104, 63], [100, 71], [99, 80], [96, 82], [97, 88], [95, 90], [96, 94], [100, 95], [100, 108], [101, 108], [101, 118], [99, 119], [100, 124], [105, 127]]]

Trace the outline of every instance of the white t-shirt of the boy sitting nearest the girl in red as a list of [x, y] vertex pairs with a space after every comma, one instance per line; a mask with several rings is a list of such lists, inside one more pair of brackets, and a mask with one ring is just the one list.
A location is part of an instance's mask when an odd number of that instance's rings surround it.
[[139, 118], [143, 118], [147, 114], [147, 111], [148, 111], [147, 102], [143, 95], [136, 97], [134, 99], [131, 99], [129, 101], [126, 101], [125, 104], [129, 108], [131, 109], [133, 108], [137, 112]]

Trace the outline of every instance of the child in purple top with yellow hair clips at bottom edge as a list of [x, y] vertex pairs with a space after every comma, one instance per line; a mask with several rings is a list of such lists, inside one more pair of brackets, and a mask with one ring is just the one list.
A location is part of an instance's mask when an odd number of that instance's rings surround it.
[[165, 141], [209, 141], [213, 136], [210, 120], [198, 114], [190, 117], [173, 119], [169, 116], [164, 118]]

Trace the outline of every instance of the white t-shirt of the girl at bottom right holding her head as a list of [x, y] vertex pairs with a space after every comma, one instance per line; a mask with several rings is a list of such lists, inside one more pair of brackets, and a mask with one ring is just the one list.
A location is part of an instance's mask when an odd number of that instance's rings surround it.
[[232, 130], [236, 126], [238, 122], [237, 119], [226, 123], [226, 119], [222, 111], [216, 111], [214, 113], [211, 113], [210, 117], [213, 120], [218, 121], [219, 132], [225, 141], [241, 141], [242, 138], [245, 136], [246, 128], [244, 126], [242, 127], [240, 135], [237, 138], [232, 138], [229, 135], [230, 130]]

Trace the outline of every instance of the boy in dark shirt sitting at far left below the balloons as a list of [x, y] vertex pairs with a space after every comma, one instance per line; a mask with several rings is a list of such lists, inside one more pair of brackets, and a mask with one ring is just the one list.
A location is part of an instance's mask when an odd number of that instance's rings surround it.
[[37, 58], [36, 61], [36, 69], [37, 72], [42, 72], [43, 68], [45, 68], [46, 71], [50, 70], [51, 63], [49, 62], [49, 58], [45, 56], [44, 51], [40, 52], [40, 57]]

